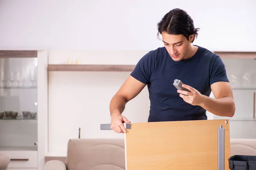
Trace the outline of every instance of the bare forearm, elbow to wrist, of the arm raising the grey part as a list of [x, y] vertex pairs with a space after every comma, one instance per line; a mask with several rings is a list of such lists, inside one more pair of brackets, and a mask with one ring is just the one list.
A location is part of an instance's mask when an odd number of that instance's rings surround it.
[[234, 116], [236, 106], [232, 98], [224, 97], [220, 99], [213, 99], [204, 95], [202, 97], [203, 102], [200, 106], [210, 113], [217, 116]]

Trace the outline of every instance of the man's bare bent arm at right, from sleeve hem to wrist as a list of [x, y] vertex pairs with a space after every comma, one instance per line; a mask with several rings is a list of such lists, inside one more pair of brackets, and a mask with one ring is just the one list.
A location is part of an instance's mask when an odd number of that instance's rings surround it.
[[229, 82], [215, 82], [211, 85], [216, 99], [202, 95], [201, 107], [217, 116], [233, 117], [236, 105]]

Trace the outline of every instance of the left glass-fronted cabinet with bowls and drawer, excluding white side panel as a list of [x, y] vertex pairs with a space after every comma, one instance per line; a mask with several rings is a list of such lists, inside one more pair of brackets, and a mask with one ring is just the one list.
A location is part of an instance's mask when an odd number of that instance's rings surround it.
[[0, 51], [0, 153], [12, 170], [34, 170], [37, 151], [37, 51]]

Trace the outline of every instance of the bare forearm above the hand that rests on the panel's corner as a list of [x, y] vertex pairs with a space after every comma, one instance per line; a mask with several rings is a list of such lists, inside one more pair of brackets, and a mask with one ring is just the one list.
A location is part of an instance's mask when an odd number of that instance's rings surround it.
[[110, 102], [110, 113], [111, 116], [116, 113], [121, 113], [125, 110], [126, 100], [120, 95], [115, 95]]

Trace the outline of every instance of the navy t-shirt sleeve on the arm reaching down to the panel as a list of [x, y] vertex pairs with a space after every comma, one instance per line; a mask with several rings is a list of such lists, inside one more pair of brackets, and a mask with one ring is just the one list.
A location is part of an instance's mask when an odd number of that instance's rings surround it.
[[151, 52], [149, 52], [139, 60], [134, 70], [131, 72], [131, 76], [147, 85], [150, 82], [151, 73], [152, 57]]

